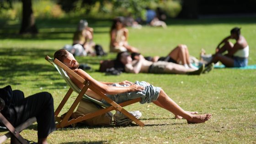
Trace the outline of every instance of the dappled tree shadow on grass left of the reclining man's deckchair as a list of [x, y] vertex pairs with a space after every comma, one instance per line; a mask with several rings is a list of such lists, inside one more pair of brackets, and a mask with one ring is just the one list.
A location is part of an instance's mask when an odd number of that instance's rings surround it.
[[[63, 88], [64, 82], [56, 82], [61, 77], [52, 64], [44, 60], [49, 53], [54, 53], [53, 49], [38, 48], [2, 48], [0, 49], [0, 85], [20, 85], [28, 80], [22, 77], [30, 76], [29, 81], [42, 80], [53, 81], [53, 85], [38, 83], [35, 87], [51, 87], [51, 89]], [[45, 62], [45, 63], [41, 63]], [[38, 63], [39, 62], [39, 63]], [[56, 75], [55, 75], [56, 74]], [[18, 79], [18, 80], [17, 80]], [[52, 87], [53, 86], [53, 87]]]

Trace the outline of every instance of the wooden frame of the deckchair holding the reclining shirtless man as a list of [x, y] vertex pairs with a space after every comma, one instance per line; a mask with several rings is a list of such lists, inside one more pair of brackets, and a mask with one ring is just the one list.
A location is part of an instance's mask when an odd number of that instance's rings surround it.
[[[99, 116], [99, 115], [101, 115], [103, 113], [110, 112], [112, 110], [116, 110], [116, 111], [122, 112], [125, 116], [129, 117], [133, 122], [137, 123], [141, 127], [144, 127], [144, 123], [142, 123], [139, 119], [134, 117], [132, 114], [130, 114], [128, 111], [126, 111], [123, 108], [125, 106], [130, 105], [130, 104], [133, 104], [133, 103], [141, 101], [141, 98], [136, 98], [136, 99], [133, 99], [133, 100], [129, 100], [129, 101], [125, 101], [123, 103], [117, 104], [115, 101], [113, 101], [112, 99], [108, 98], [102, 92], [97, 91], [94, 85], [91, 85], [89, 81], [83, 79], [80, 75], [76, 74], [73, 70], [69, 69], [65, 64], [60, 62], [58, 59], [54, 59], [53, 60], [49, 56], [46, 56], [45, 59], [48, 62], [50, 62], [51, 64], [54, 65], [54, 67], [59, 71], [59, 74], [64, 78], [66, 83], [70, 86], [69, 91], [66, 93], [66, 95], [63, 98], [63, 100], [60, 102], [59, 106], [57, 107], [56, 111], [54, 112], [55, 120], [58, 122], [58, 124], [56, 124], [56, 128], [63, 128], [65, 126], [68, 126], [68, 125], [71, 125], [71, 124], [74, 124], [74, 123], [78, 123], [78, 122], [84, 121], [84, 120], [92, 118], [92, 117]], [[82, 88], [82, 90], [80, 90], [69, 79], [69, 76], [67, 75], [67, 73], [69, 73], [75, 79], [79, 80], [81, 83], [84, 84], [84, 87]], [[107, 101], [107, 103], [109, 103], [110, 106], [102, 103], [101, 101], [97, 101], [97, 100], [91, 98], [90, 96], [85, 95], [85, 92], [87, 91], [88, 88], [90, 88], [92, 91], [96, 92], [96, 94], [101, 96], [102, 99]], [[73, 104], [69, 108], [69, 110], [66, 113], [66, 115], [63, 118], [59, 117], [58, 116], [59, 112], [64, 107], [64, 104], [67, 102], [67, 100], [69, 99], [69, 96], [72, 94], [73, 91], [78, 93], [78, 96], [76, 97], [75, 101], [73, 102]], [[75, 108], [77, 107], [78, 103], [80, 102], [80, 100], [82, 98], [85, 98], [85, 99], [87, 99], [89, 101], [92, 101], [92, 102], [96, 103], [97, 105], [100, 105], [100, 106], [102, 106], [104, 108], [101, 109], [101, 110], [98, 110], [96, 112], [88, 113], [88, 114], [85, 114], [84, 116], [77, 117], [76, 119], [69, 120], [71, 114], [74, 112]]]

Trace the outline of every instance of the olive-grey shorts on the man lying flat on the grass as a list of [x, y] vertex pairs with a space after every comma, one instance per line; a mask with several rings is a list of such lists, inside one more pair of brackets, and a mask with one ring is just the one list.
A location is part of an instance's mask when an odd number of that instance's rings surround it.
[[165, 73], [165, 67], [168, 65], [169, 62], [165, 61], [158, 61], [150, 65], [149, 67], [149, 73], [153, 74], [164, 74]]

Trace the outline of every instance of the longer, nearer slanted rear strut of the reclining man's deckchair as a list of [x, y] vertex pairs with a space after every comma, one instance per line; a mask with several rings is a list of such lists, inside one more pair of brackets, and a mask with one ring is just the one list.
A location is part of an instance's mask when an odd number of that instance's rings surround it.
[[56, 128], [63, 128], [65, 123], [68, 122], [69, 117], [71, 116], [71, 114], [74, 112], [75, 107], [78, 105], [78, 103], [80, 102], [80, 100], [82, 99], [82, 97], [84, 96], [85, 92], [87, 91], [87, 89], [89, 88], [90, 83], [89, 81], [85, 84], [85, 86], [83, 87], [82, 91], [79, 93], [79, 95], [76, 97], [75, 101], [73, 102], [72, 106], [69, 108], [69, 111], [66, 113], [66, 115], [64, 116], [63, 120], [61, 121], [61, 123], [59, 125], [56, 125]]

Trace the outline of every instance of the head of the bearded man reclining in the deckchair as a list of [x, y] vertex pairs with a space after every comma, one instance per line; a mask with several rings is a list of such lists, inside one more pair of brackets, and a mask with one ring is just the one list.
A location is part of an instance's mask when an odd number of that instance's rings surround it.
[[74, 56], [65, 49], [56, 51], [54, 59], [58, 59], [70, 69], [77, 69], [79, 67], [79, 63], [75, 60]]

